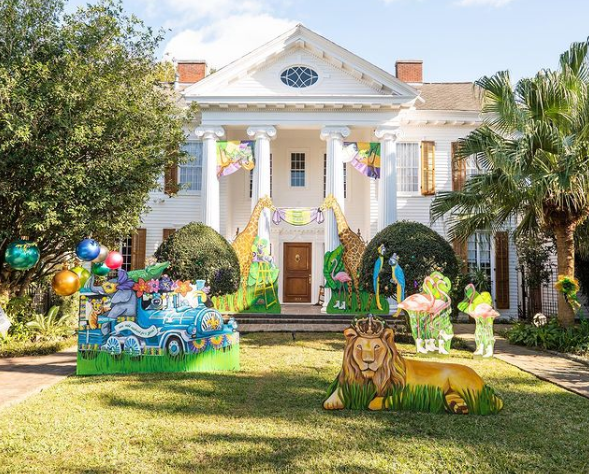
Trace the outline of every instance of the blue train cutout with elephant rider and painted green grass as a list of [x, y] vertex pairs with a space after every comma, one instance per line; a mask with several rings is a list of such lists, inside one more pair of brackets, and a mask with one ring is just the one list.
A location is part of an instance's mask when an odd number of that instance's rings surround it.
[[204, 281], [135, 278], [119, 270], [82, 289], [79, 375], [239, 369], [237, 324], [205, 305]]

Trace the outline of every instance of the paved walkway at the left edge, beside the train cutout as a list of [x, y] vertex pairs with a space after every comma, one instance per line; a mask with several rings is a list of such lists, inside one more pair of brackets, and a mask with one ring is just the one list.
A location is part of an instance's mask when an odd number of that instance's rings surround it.
[[75, 346], [46, 356], [0, 358], [0, 409], [75, 373]]

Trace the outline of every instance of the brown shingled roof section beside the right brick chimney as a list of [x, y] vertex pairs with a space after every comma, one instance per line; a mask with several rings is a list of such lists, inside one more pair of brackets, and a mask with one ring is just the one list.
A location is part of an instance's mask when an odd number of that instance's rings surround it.
[[414, 87], [424, 100], [415, 102], [417, 110], [481, 110], [481, 101], [472, 82], [425, 82]]

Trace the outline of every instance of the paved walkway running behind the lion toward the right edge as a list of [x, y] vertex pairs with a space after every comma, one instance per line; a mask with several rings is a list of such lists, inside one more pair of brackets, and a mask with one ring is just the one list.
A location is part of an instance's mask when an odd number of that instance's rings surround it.
[[[474, 349], [474, 325], [455, 324], [454, 333]], [[564, 357], [509, 344], [496, 336], [495, 358], [514, 365], [541, 380], [552, 382], [589, 398], [589, 366]]]

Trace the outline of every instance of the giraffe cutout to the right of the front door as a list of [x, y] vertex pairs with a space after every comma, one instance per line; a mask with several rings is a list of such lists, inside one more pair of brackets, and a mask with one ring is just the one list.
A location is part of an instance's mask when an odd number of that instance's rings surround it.
[[352, 279], [352, 285], [356, 294], [358, 309], [361, 311], [360, 299], [360, 265], [362, 263], [362, 255], [366, 249], [366, 243], [358, 234], [356, 234], [346, 221], [346, 217], [339, 206], [337, 199], [330, 194], [325, 198], [320, 207], [321, 210], [331, 209], [335, 215], [335, 222], [337, 224], [337, 234], [344, 248], [342, 260], [346, 272]]

